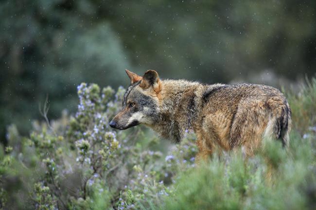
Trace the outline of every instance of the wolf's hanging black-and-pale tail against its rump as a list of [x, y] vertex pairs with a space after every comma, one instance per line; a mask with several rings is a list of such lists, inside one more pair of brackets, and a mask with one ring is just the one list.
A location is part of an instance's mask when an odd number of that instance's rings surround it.
[[267, 102], [270, 108], [270, 120], [266, 126], [264, 137], [281, 140], [283, 146], [288, 146], [291, 131], [291, 109], [286, 99], [284, 101], [271, 98]]

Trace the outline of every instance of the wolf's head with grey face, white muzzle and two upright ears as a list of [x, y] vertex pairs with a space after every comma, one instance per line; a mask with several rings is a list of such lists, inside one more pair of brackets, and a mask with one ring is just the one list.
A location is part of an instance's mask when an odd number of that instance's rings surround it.
[[110, 122], [112, 128], [124, 130], [138, 124], [152, 125], [158, 120], [161, 82], [155, 70], [141, 77], [126, 70], [131, 80], [123, 98], [123, 109]]

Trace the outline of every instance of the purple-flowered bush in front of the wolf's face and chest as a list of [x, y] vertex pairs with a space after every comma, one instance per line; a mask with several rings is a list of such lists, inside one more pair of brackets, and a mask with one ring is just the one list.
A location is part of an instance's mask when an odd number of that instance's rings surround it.
[[[12, 167], [11, 159], [25, 167], [29, 176], [18, 172], [19, 189], [25, 193], [30, 209], [139, 209], [158, 205], [163, 196], [173, 193], [168, 185], [176, 173], [194, 165], [194, 136], [177, 145], [167, 157], [151, 150], [157, 138], [146, 145], [140, 127], [117, 131], [109, 119], [121, 109], [124, 89], [116, 94], [110, 87], [102, 90], [95, 84], [78, 86], [79, 105], [74, 117], [66, 112], [51, 124], [34, 123], [30, 138], [21, 138], [9, 129], [9, 144], [2, 167]], [[17, 139], [21, 143], [17, 143]], [[147, 138], [148, 139], [148, 138]], [[33, 176], [33, 170], [38, 174]], [[5, 173], [9, 169], [3, 170]], [[2, 174], [3, 176], [5, 176]], [[1, 205], [24, 209], [1, 188]], [[11, 196], [11, 195], [10, 195]], [[149, 202], [148, 202], [149, 201]]]

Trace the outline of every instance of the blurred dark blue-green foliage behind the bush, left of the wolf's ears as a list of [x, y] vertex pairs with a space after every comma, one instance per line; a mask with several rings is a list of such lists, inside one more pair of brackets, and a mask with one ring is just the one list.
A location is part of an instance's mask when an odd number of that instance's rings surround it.
[[[82, 81], [116, 85], [129, 61], [109, 21], [88, 0], [0, 2], [0, 133], [25, 132], [49, 96], [50, 117], [74, 110]], [[2, 135], [1, 135], [2, 136]]]

